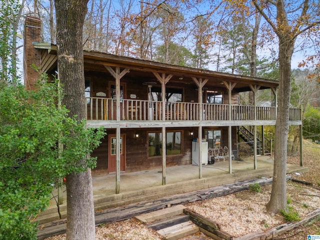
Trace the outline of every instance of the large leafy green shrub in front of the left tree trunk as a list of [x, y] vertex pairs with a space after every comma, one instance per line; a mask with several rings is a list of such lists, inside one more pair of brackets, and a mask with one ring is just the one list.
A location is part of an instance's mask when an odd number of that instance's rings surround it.
[[[56, 105], [60, 88], [0, 88], [0, 239], [36, 239], [33, 218], [49, 204], [56, 179], [95, 165], [89, 156], [104, 135]], [[58, 148], [63, 144], [63, 151]]]

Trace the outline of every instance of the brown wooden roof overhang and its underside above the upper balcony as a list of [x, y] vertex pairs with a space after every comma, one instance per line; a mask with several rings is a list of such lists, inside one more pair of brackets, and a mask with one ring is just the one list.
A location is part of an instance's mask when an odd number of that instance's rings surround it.
[[[56, 54], [55, 45], [41, 45], [35, 46], [47, 51], [46, 57]], [[42, 54], [43, 56], [43, 54]], [[52, 58], [52, 57], [51, 57]], [[95, 71], [108, 73], [105, 65], [129, 68], [130, 71], [125, 74], [125, 77], [133, 79], [137, 83], [143, 83], [146, 81], [154, 81], [159, 86], [160, 83], [157, 81], [152, 72], [173, 74], [171, 79], [166, 85], [181, 85], [181, 86], [191, 86], [196, 88], [194, 81], [191, 77], [208, 79], [207, 83], [204, 85], [206, 88], [224, 88], [222, 81], [235, 82], [233, 91], [249, 91], [251, 90], [249, 85], [259, 85], [259, 89], [266, 88], [276, 88], [278, 86], [278, 81], [263, 79], [258, 77], [241, 76], [230, 73], [216, 72], [206, 69], [191, 68], [185, 66], [177, 66], [171, 64], [165, 64], [156, 61], [149, 61], [143, 59], [136, 59], [132, 57], [117, 56], [108, 53], [94, 52], [94, 51], [83, 51], [84, 58], [84, 71]], [[53, 59], [53, 58], [52, 58]], [[56, 69], [56, 57], [55, 60], [50, 61], [50, 66], [46, 66], [46, 69]], [[42, 59], [43, 60], [43, 59]]]

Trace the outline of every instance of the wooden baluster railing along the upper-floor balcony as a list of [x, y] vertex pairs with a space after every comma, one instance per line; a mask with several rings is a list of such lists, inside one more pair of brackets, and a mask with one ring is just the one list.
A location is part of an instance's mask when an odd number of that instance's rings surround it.
[[[88, 120], [116, 120], [116, 102], [113, 98], [87, 97]], [[229, 108], [230, 111], [229, 111]], [[275, 120], [276, 107], [203, 103], [203, 120]], [[120, 100], [120, 120], [199, 120], [200, 103], [165, 102], [137, 99]], [[290, 108], [289, 120], [301, 120], [301, 109]]]

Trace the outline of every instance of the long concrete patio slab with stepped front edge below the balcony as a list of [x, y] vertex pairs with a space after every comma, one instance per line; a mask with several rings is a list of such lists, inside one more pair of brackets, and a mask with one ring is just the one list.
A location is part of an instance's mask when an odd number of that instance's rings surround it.
[[[202, 165], [202, 178], [198, 177], [198, 166], [180, 165], [166, 167], [166, 184], [162, 185], [161, 169], [138, 172], [121, 172], [120, 193], [115, 194], [115, 174], [92, 177], [94, 208], [96, 211], [127, 205], [134, 202], [156, 199], [163, 196], [206, 189], [218, 185], [239, 182], [259, 177], [272, 176], [273, 158], [257, 157], [257, 169], [254, 169], [253, 157], [242, 158], [243, 161], [232, 160], [232, 173], [229, 173], [229, 162]], [[307, 167], [287, 165], [287, 172], [304, 172]], [[56, 198], [57, 190], [53, 192]], [[66, 192], [64, 202], [58, 208], [55, 199], [36, 219], [39, 224], [66, 217]]]

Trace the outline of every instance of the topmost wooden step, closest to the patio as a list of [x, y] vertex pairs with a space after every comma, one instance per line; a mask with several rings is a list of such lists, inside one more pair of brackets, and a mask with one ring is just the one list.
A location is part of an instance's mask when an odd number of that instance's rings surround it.
[[158, 220], [165, 219], [167, 217], [182, 214], [184, 208], [185, 206], [183, 205], [175, 205], [171, 207], [162, 208], [160, 210], [144, 213], [144, 214], [135, 216], [135, 218], [143, 223], [158, 221]]

